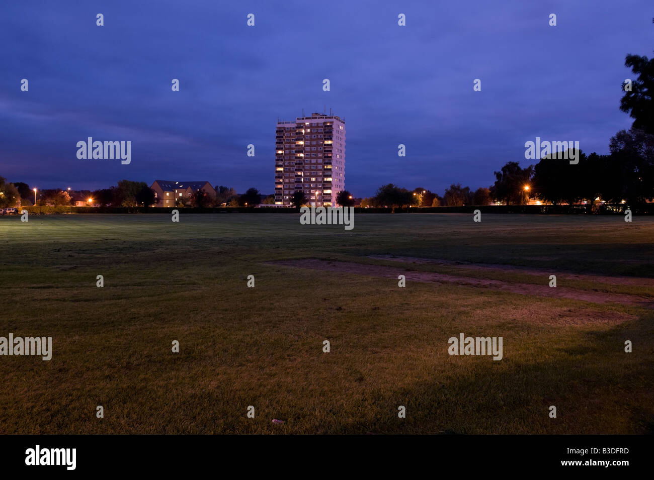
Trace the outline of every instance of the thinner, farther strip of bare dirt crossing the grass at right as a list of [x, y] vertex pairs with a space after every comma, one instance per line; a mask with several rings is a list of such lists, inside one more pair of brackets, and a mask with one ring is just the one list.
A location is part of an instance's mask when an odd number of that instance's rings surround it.
[[561, 272], [560, 270], [538, 270], [528, 266], [515, 266], [506, 264], [493, 264], [493, 263], [466, 263], [456, 262], [451, 260], [441, 259], [424, 259], [420, 257], [403, 257], [398, 255], [370, 255], [371, 259], [377, 260], [392, 260], [402, 263], [415, 263], [415, 264], [433, 264], [433, 265], [447, 265], [468, 270], [480, 270], [486, 272], [520, 272], [527, 275], [543, 276], [549, 278], [551, 274], [555, 274], [557, 279], [564, 280], [585, 280], [596, 281], [598, 283], [610, 283], [613, 285], [636, 285], [639, 287], [654, 287], [654, 278], [643, 277], [617, 277], [617, 276], [602, 276], [595, 274], [577, 274], [574, 272]]

